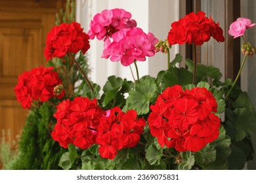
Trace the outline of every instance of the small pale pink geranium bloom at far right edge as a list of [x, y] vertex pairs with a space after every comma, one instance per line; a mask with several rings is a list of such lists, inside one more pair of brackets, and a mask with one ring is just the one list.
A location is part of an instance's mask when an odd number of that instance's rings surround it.
[[238, 18], [235, 22], [230, 24], [228, 33], [234, 38], [243, 36], [246, 29], [253, 27], [256, 24], [251, 24], [248, 18]]

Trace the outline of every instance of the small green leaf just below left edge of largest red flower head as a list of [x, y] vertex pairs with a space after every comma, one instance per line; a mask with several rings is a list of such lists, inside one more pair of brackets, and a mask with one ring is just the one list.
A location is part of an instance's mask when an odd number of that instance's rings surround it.
[[156, 148], [155, 144], [151, 144], [146, 149], [146, 159], [150, 165], [160, 165], [161, 157], [163, 156], [163, 150]]

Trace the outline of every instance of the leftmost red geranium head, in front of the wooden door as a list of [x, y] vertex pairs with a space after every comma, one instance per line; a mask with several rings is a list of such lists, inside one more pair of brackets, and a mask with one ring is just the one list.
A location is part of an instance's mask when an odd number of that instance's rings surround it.
[[64, 92], [54, 95], [54, 87], [62, 84], [62, 80], [53, 69], [54, 67], [39, 67], [18, 76], [14, 92], [22, 107], [30, 108], [33, 100], [45, 102], [52, 97], [61, 99], [64, 96]]

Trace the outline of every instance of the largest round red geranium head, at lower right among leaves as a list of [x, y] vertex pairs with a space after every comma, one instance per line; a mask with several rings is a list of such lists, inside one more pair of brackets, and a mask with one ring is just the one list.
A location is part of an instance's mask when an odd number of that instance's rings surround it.
[[158, 138], [161, 147], [196, 152], [219, 137], [217, 103], [205, 88], [183, 91], [175, 85], [167, 88], [150, 108], [150, 133]]

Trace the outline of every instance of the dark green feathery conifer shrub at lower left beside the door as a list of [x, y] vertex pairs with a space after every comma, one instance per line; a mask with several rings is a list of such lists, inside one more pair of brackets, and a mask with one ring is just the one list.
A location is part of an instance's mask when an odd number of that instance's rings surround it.
[[60, 169], [58, 161], [66, 151], [51, 138], [54, 108], [43, 103], [28, 114], [19, 142], [19, 154], [9, 169]]

